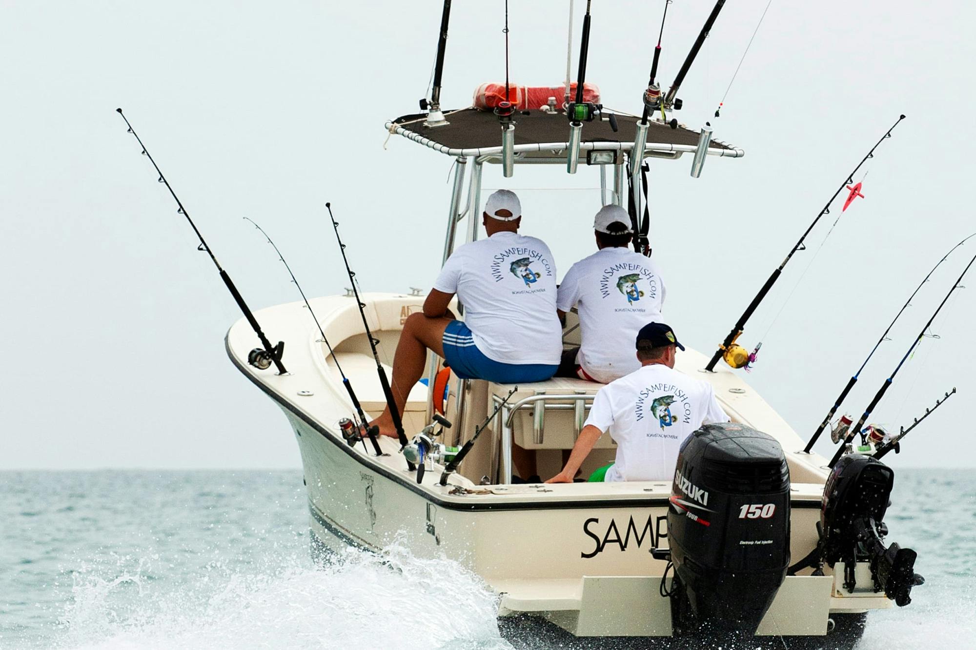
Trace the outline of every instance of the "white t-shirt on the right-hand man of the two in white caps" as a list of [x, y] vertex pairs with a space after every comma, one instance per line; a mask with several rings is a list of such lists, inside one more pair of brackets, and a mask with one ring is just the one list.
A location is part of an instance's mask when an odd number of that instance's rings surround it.
[[579, 305], [583, 345], [577, 357], [597, 382], [609, 384], [640, 367], [633, 342], [640, 328], [661, 321], [665, 285], [657, 264], [625, 247], [604, 248], [573, 264], [556, 306]]

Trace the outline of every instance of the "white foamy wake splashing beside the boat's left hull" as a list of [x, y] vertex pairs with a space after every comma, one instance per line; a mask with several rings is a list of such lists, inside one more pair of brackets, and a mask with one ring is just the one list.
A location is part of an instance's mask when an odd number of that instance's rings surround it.
[[418, 559], [400, 543], [383, 557], [349, 549], [319, 567], [284, 559], [254, 573], [215, 562], [179, 589], [157, 586], [153, 566], [165, 558], [117, 576], [81, 572], [56, 647], [511, 647], [499, 635], [497, 597], [456, 562]]

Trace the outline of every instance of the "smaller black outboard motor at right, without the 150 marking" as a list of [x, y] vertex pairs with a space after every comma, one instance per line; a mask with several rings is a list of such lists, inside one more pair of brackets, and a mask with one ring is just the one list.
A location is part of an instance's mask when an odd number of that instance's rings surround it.
[[899, 606], [912, 602], [912, 588], [925, 582], [915, 574], [915, 551], [897, 544], [884, 546], [888, 527], [881, 519], [888, 509], [895, 472], [870, 456], [842, 456], [824, 487], [820, 523], [823, 559], [843, 563], [844, 588], [857, 587], [858, 561], [871, 563], [874, 584], [868, 587]]

